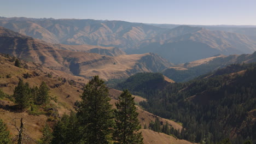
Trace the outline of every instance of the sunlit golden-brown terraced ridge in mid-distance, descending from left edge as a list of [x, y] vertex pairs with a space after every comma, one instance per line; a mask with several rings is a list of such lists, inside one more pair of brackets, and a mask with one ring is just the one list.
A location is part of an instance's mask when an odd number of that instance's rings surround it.
[[[95, 51], [100, 54], [109, 52], [115, 57], [88, 53]], [[172, 65], [154, 53], [121, 55], [124, 53], [115, 47], [46, 44], [3, 27], [0, 27], [0, 52], [69, 74], [84, 77], [99, 75], [105, 80], [120, 79], [143, 71], [161, 71]]]

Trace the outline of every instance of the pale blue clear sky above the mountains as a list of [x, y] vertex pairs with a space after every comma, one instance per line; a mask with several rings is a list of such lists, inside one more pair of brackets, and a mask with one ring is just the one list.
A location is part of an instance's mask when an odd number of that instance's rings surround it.
[[0, 0], [0, 16], [256, 25], [256, 0]]

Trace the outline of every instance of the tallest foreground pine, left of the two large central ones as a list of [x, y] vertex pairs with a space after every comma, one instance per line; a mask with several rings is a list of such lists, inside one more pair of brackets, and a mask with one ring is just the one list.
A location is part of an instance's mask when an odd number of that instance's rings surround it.
[[85, 85], [81, 98], [77, 114], [84, 127], [83, 142], [109, 143], [112, 140], [113, 110], [104, 81], [94, 76]]

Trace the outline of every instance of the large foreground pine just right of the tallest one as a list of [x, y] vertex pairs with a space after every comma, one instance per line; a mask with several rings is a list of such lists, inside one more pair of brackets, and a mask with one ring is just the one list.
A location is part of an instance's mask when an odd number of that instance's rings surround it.
[[126, 89], [118, 97], [118, 102], [115, 103], [117, 109], [114, 110], [116, 128], [114, 130], [115, 143], [143, 143], [143, 137], [138, 130], [141, 124], [138, 121], [138, 113], [134, 97]]

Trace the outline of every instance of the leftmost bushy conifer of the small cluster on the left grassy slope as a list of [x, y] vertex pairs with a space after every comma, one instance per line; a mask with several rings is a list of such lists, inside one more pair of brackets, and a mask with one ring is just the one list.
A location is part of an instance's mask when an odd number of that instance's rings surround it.
[[18, 104], [19, 109], [24, 110], [30, 105], [31, 91], [28, 83], [20, 80], [18, 86], [14, 89], [13, 97], [15, 99], [15, 103]]

